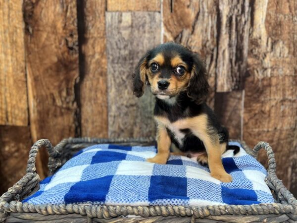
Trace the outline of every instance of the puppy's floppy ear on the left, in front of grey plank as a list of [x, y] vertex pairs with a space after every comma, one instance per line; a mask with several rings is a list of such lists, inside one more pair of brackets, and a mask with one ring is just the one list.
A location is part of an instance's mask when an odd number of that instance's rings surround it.
[[133, 73], [133, 94], [136, 97], [141, 97], [144, 94], [145, 82], [146, 82], [146, 66], [147, 66], [148, 54], [143, 56]]

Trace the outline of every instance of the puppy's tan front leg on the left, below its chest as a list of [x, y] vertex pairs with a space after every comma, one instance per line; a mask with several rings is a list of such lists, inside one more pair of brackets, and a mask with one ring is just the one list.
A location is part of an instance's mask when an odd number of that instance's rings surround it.
[[157, 142], [158, 142], [158, 153], [155, 157], [147, 159], [150, 163], [166, 164], [169, 153], [171, 139], [164, 126], [158, 125], [157, 127]]

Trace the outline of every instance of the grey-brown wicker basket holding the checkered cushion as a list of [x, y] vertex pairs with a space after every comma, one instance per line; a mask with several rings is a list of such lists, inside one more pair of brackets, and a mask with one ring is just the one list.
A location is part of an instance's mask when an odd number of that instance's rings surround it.
[[275, 174], [274, 154], [266, 142], [259, 142], [251, 151], [241, 142], [247, 153], [256, 157], [263, 148], [268, 156], [267, 185], [273, 191], [275, 203], [258, 205], [213, 205], [204, 207], [185, 206], [110, 206], [90, 204], [32, 205], [21, 203], [25, 197], [39, 189], [39, 175], [35, 161], [38, 150], [45, 147], [49, 152], [49, 174], [53, 174], [78, 150], [98, 143], [122, 145], [151, 145], [152, 138], [96, 139], [69, 138], [52, 147], [49, 140], [37, 141], [31, 148], [27, 173], [0, 197], [0, 222], [113, 222], [113, 223], [225, 223], [225, 222], [297, 222], [297, 200]]

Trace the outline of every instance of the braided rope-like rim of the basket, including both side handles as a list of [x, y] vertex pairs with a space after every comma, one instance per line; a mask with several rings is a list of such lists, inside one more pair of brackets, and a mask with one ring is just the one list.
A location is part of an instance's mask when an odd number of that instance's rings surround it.
[[267, 142], [259, 142], [253, 150], [248, 148], [244, 141], [239, 142], [248, 154], [256, 158], [258, 151], [263, 148], [268, 156], [267, 185], [277, 192], [278, 200], [281, 203], [255, 204], [255, 205], [207, 205], [198, 207], [189, 206], [114, 206], [95, 205], [89, 203], [82, 204], [61, 204], [61, 205], [33, 205], [22, 203], [19, 200], [22, 196], [36, 192], [39, 189], [40, 177], [36, 172], [35, 161], [38, 150], [46, 147], [49, 153], [49, 173], [52, 174], [61, 164], [62, 150], [68, 144], [96, 144], [96, 143], [152, 143], [154, 138], [127, 138], [127, 139], [99, 139], [99, 138], [67, 138], [63, 139], [54, 148], [49, 140], [38, 140], [31, 148], [27, 173], [7, 192], [0, 197], [0, 222], [4, 221], [9, 213], [39, 213], [42, 215], [66, 215], [80, 214], [88, 218], [110, 219], [114, 217], [138, 215], [141, 217], [155, 216], [188, 216], [192, 218], [206, 218], [208, 216], [222, 215], [269, 215], [286, 214], [290, 219], [297, 220], [297, 200], [293, 194], [284, 186], [276, 175], [276, 163], [272, 148]]

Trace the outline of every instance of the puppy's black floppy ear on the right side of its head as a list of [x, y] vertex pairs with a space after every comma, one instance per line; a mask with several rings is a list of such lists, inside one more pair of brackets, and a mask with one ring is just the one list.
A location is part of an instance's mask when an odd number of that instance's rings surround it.
[[206, 69], [198, 54], [193, 53], [192, 58], [193, 66], [187, 94], [196, 104], [201, 104], [206, 100], [209, 88]]

